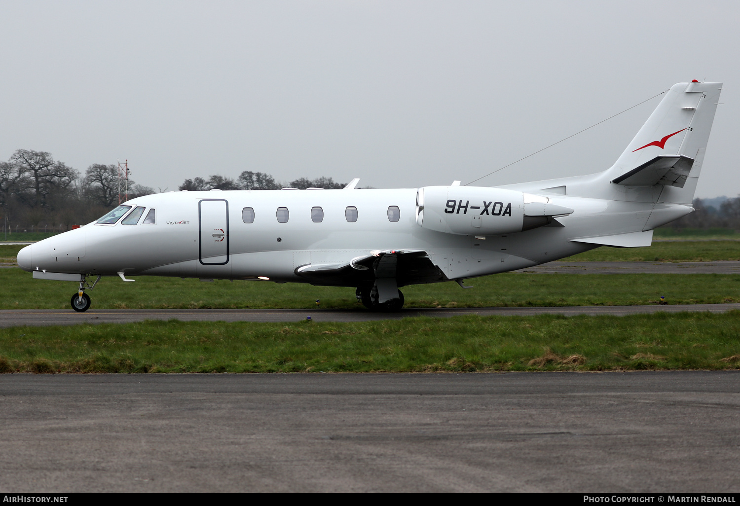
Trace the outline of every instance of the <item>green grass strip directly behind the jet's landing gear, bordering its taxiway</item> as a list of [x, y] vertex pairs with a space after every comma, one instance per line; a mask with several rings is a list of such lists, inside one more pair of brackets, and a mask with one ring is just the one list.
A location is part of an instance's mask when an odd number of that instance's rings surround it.
[[[302, 283], [216, 280], [201, 283], [178, 277], [135, 277], [123, 283], [105, 277], [88, 291], [93, 309], [105, 308], [362, 308], [354, 289]], [[7, 289], [1, 309], [69, 309], [75, 283], [33, 280], [17, 268], [0, 269]], [[740, 302], [738, 274], [528, 274], [504, 273], [457, 283], [404, 287], [406, 308], [621, 306]]]

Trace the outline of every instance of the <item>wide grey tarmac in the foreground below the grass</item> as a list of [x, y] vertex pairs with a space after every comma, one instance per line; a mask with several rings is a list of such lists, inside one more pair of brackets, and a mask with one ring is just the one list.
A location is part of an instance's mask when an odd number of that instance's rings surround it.
[[0, 490], [736, 492], [740, 371], [0, 375]]

